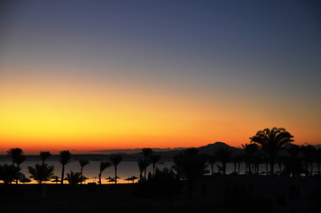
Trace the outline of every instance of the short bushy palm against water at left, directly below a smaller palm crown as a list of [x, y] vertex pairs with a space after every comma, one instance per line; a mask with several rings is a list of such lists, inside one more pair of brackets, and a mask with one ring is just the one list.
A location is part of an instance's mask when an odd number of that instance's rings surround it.
[[28, 172], [30, 173], [30, 177], [34, 178], [38, 184], [42, 184], [43, 181], [48, 181], [53, 177], [53, 166], [49, 166], [48, 164], [35, 164], [35, 168], [27, 167]]

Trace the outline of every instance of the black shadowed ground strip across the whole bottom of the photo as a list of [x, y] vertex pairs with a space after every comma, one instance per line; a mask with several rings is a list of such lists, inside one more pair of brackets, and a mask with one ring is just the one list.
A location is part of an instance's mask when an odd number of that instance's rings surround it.
[[0, 185], [0, 213], [320, 212], [320, 178], [204, 177], [188, 193], [150, 196], [137, 184]]

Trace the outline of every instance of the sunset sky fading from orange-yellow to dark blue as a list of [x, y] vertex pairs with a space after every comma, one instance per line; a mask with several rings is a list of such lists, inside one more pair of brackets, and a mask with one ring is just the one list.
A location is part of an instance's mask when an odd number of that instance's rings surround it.
[[0, 154], [321, 144], [317, 1], [2, 1]]

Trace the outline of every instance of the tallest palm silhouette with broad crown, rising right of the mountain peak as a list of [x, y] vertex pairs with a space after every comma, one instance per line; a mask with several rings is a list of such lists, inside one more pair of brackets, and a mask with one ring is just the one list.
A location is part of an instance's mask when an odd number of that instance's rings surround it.
[[270, 173], [274, 174], [274, 164], [277, 162], [278, 152], [289, 146], [294, 140], [292, 136], [284, 128], [273, 127], [271, 130], [266, 128], [259, 130], [251, 137], [251, 142], [261, 146], [261, 149], [268, 154], [268, 161], [270, 163]]

